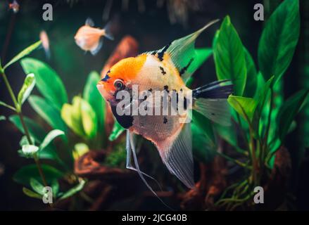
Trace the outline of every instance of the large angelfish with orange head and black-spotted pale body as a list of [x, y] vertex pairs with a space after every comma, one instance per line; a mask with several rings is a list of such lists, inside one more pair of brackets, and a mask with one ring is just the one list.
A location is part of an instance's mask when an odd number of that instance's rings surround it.
[[[137, 163], [134, 135], [139, 134], [152, 141], [168, 170], [188, 188], [193, 188], [191, 124], [180, 123], [180, 115], [118, 115], [116, 108], [119, 100], [116, 96], [118, 91], [132, 91], [134, 84], [138, 85], [139, 91], [191, 91], [192, 110], [213, 122], [229, 125], [227, 98], [232, 94], [232, 83], [229, 80], [212, 82], [193, 90], [185, 84], [206, 60], [205, 51], [195, 48], [196, 38], [216, 22], [217, 20], [213, 20], [200, 30], [176, 39], [158, 51], [120, 60], [97, 84], [101, 95], [111, 105], [116, 120], [127, 129], [127, 168], [139, 172], [141, 179], [153, 193], [144, 179], [143, 175], [146, 174], [141, 172]], [[131, 165], [131, 155], [136, 168]]]

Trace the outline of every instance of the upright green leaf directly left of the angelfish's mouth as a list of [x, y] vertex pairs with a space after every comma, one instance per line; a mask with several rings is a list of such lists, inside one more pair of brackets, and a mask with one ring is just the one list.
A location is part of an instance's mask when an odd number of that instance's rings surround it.
[[[100, 75], [98, 72], [90, 72], [86, 85], [84, 86], [83, 98], [86, 100], [93, 108], [96, 113], [96, 118], [98, 120], [98, 131], [101, 133], [105, 131], [104, 119], [105, 119], [105, 100], [96, 89], [96, 84], [100, 80]], [[104, 134], [102, 134], [104, 135]]]

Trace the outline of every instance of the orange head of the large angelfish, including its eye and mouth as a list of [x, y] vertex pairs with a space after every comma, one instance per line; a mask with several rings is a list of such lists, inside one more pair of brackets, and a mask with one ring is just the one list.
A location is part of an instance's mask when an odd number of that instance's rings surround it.
[[111, 103], [112, 106], [116, 105], [120, 101], [116, 99], [117, 92], [122, 90], [130, 91], [132, 89], [132, 84], [134, 84], [145, 60], [146, 55], [141, 55], [122, 59], [113, 65], [105, 77], [96, 85], [103, 98]]

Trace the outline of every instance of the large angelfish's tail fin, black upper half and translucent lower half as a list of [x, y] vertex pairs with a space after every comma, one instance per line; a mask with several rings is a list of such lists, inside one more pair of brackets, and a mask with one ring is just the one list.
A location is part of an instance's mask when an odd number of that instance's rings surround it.
[[213, 122], [229, 126], [231, 115], [227, 98], [232, 94], [232, 89], [232, 82], [226, 79], [194, 89], [192, 91], [193, 109]]

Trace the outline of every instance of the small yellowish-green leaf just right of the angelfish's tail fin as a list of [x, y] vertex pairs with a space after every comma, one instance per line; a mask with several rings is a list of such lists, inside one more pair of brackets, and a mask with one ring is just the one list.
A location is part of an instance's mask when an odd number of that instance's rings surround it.
[[[227, 98], [229, 105], [241, 115], [245, 120], [251, 122], [256, 111], [258, 102], [253, 98], [245, 98], [241, 96], [229, 96]], [[248, 118], [248, 119], [247, 119]]]

